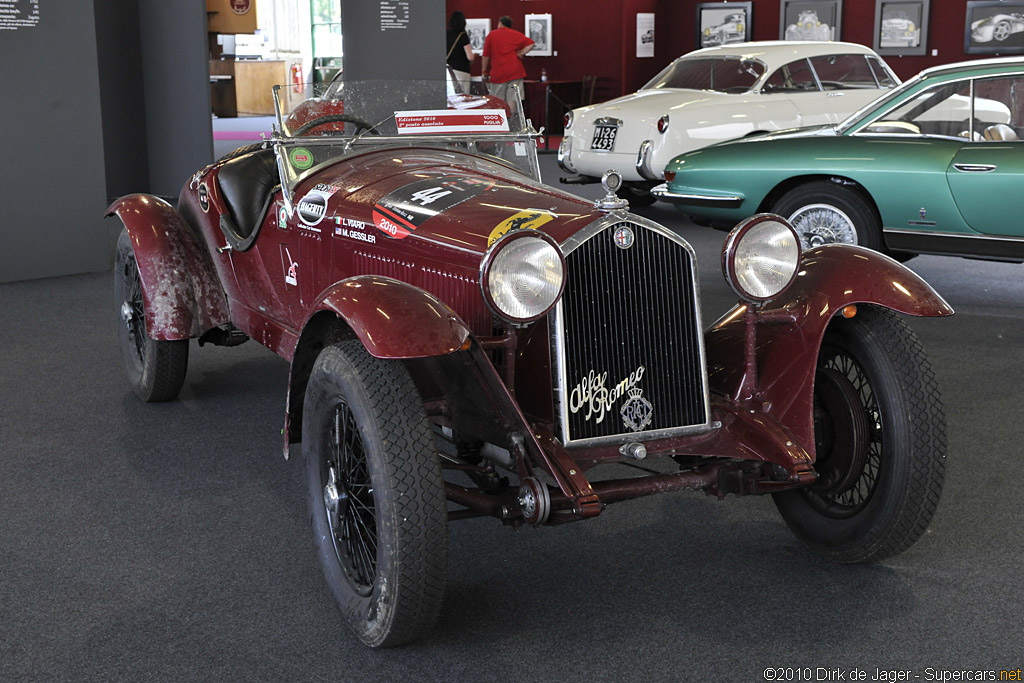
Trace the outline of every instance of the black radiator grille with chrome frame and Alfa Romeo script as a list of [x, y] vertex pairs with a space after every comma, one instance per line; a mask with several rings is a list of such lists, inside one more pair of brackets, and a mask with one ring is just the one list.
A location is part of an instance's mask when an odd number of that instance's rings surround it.
[[566, 265], [555, 335], [565, 442], [706, 425], [691, 252], [660, 232], [616, 222], [571, 251]]

